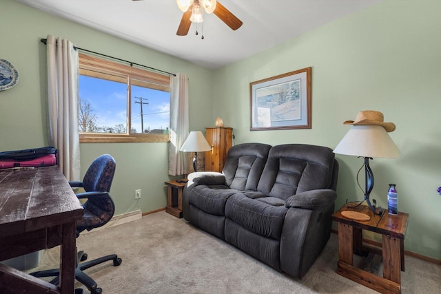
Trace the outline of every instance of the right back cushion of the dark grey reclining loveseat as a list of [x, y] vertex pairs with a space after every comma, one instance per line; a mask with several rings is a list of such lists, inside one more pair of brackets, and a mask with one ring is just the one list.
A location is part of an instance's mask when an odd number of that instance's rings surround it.
[[334, 153], [328, 147], [287, 144], [269, 150], [258, 191], [286, 200], [289, 196], [314, 189], [329, 189]]

